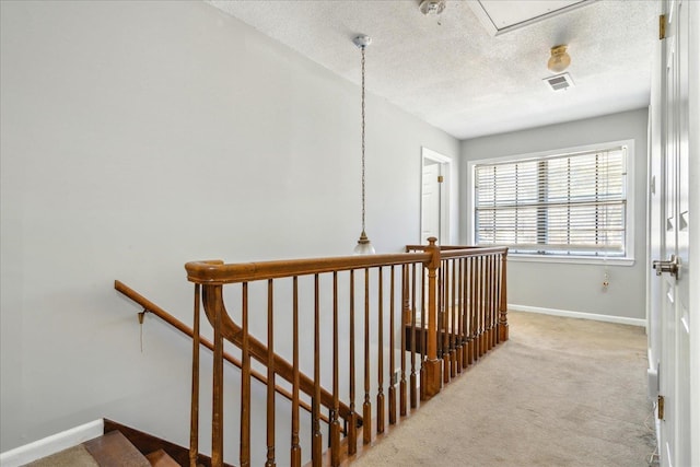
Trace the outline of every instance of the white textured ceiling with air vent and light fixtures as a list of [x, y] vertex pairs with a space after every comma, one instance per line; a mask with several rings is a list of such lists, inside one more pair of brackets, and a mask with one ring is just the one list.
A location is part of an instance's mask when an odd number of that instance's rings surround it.
[[[652, 0], [598, 0], [498, 36], [467, 1], [447, 0], [440, 24], [419, 0], [209, 3], [355, 83], [352, 37], [370, 35], [368, 91], [459, 139], [649, 105]], [[542, 79], [558, 44], [569, 45], [575, 86], [552, 92]]]

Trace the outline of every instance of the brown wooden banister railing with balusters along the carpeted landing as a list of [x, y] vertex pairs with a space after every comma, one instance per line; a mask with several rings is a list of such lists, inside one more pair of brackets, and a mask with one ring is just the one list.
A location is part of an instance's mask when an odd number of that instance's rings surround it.
[[[407, 416], [409, 406], [412, 410], [419, 399], [433, 397], [469, 363], [508, 339], [508, 248], [438, 247], [434, 238], [427, 246], [409, 248], [413, 253], [185, 265], [195, 284], [195, 329], [200, 326], [201, 307], [213, 327], [212, 465], [223, 464], [224, 340], [241, 349], [240, 404], [233, 413], [240, 420], [235, 436], [240, 465], [301, 466], [303, 446], [308, 445], [311, 462], [317, 466], [328, 445], [325, 458], [337, 466], [355, 454], [358, 443], [369, 444], [383, 433], [387, 420], [397, 423], [397, 412]], [[266, 345], [250, 331], [252, 323], [265, 320]], [[194, 336], [192, 466], [199, 452], [199, 332]], [[284, 354], [292, 363], [280, 357]], [[252, 433], [252, 359], [267, 366], [268, 384], [275, 384], [276, 375], [291, 383], [289, 451], [277, 451], [277, 404], [269, 388], [259, 395], [267, 402], [267, 450], [252, 451], [252, 440], [262, 439]], [[312, 367], [313, 377], [305, 380], [302, 369]], [[324, 384], [331, 390], [326, 392]], [[300, 392], [312, 397], [308, 432], [301, 428]], [[330, 408], [327, 421], [320, 406]], [[340, 418], [346, 421], [342, 442]], [[322, 422], [329, 431], [327, 443]]]

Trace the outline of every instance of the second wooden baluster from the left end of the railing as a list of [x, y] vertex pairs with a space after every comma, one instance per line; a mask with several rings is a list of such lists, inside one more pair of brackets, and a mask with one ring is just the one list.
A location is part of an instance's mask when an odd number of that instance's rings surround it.
[[[221, 285], [214, 285], [217, 299], [221, 297]], [[212, 363], [212, 416], [211, 416], [211, 464], [223, 466], [223, 334], [221, 331], [221, 315], [223, 314], [220, 300], [214, 304], [214, 354]]]

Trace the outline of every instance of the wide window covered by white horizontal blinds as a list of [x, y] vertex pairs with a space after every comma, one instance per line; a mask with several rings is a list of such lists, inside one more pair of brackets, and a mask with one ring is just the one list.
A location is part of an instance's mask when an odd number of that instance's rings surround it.
[[623, 257], [627, 147], [474, 165], [477, 245]]

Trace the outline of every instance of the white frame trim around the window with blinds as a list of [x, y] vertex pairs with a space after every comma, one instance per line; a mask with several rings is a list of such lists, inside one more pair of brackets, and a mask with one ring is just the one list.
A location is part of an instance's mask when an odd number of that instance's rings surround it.
[[546, 159], [552, 156], [564, 156], [580, 152], [604, 151], [608, 148], [627, 147], [627, 179], [626, 179], [626, 215], [625, 215], [625, 256], [576, 256], [576, 255], [537, 255], [509, 252], [509, 260], [532, 261], [532, 262], [569, 262], [588, 265], [620, 265], [632, 266], [634, 264], [634, 140], [608, 141], [586, 145], [562, 148], [549, 151], [538, 151], [524, 154], [511, 154], [498, 157], [478, 159], [467, 161], [467, 242], [476, 245], [476, 221], [475, 221], [475, 188], [476, 171], [478, 164], [494, 164], [518, 162], [532, 159]]

